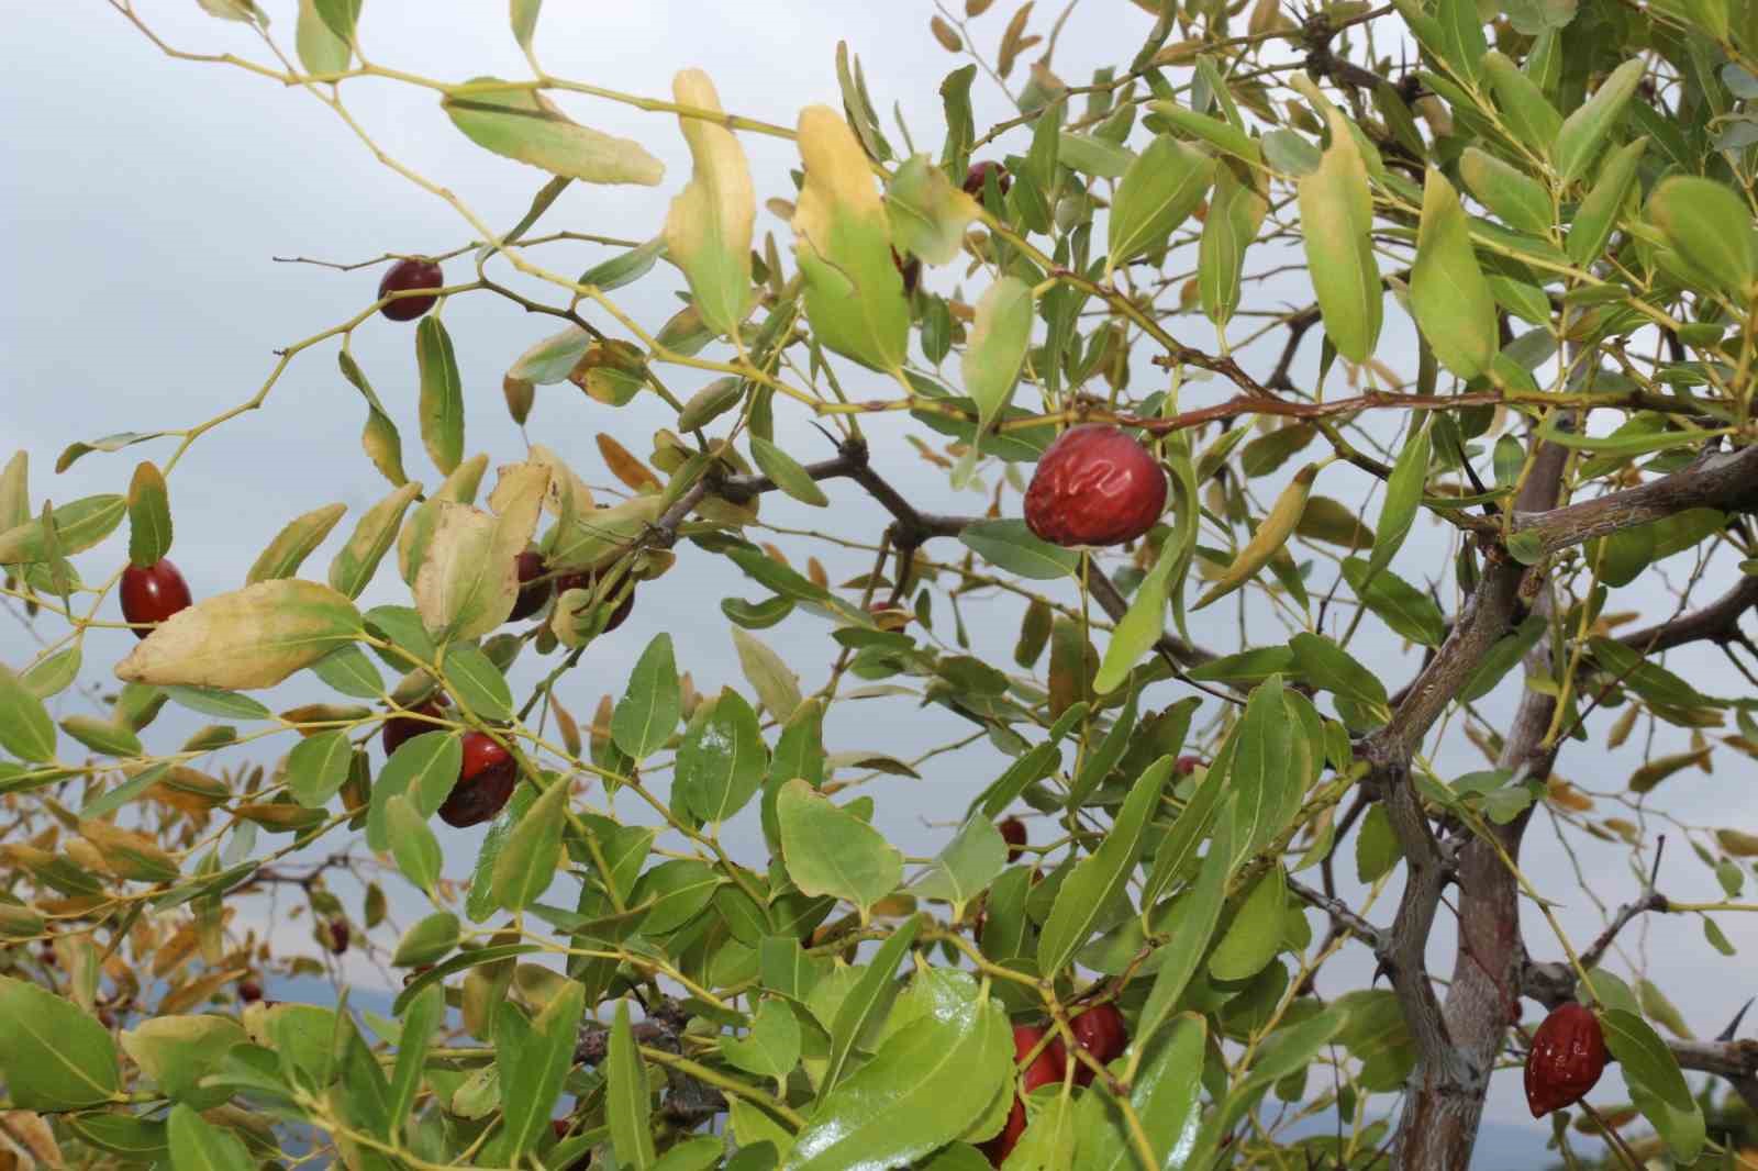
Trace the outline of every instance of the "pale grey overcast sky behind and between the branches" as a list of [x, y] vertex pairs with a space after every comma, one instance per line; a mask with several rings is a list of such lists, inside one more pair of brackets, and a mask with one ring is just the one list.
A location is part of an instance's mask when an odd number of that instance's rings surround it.
[[[977, 25], [979, 40], [993, 53], [1011, 5], [997, 5]], [[292, 42], [292, 5], [269, 5], [276, 32]], [[260, 53], [253, 37], [237, 25], [204, 16], [190, 0], [142, 0], [141, 12], [174, 46], [204, 51]], [[839, 104], [835, 46], [846, 39], [860, 53], [875, 104], [886, 111], [891, 134], [893, 102], [918, 148], [937, 151], [942, 125], [937, 86], [956, 65], [928, 35], [933, 9], [911, 0], [900, 5], [784, 4], [761, 0], [712, 5], [700, 0], [645, 0], [622, 5], [575, 5], [552, 0], [538, 30], [538, 53], [557, 74], [598, 86], [670, 97], [670, 76], [682, 67], [701, 67], [716, 81], [726, 109], [779, 123], [793, 123], [810, 102]], [[128, 448], [116, 455], [93, 454], [65, 475], [53, 475], [54, 455], [74, 440], [116, 431], [181, 427], [248, 399], [267, 376], [271, 350], [325, 329], [371, 302], [378, 271], [338, 274], [332, 271], [272, 264], [272, 255], [304, 255], [329, 260], [362, 260], [385, 251], [436, 253], [466, 243], [471, 234], [441, 200], [425, 195], [373, 162], [357, 139], [311, 97], [250, 77], [239, 70], [179, 63], [163, 58], [114, 11], [98, 0], [58, 5], [14, 5], [9, 12], [16, 53], [0, 76], [0, 100], [12, 111], [9, 132], [0, 141], [0, 232], [9, 258], [0, 283], [0, 352], [5, 355], [5, 389], [0, 390], [0, 459], [12, 448], [32, 452], [33, 501], [74, 499], [91, 492], [123, 491], [137, 459], [163, 461], [169, 441]], [[1042, 18], [1041, 18], [1042, 19]], [[1125, 0], [1086, 0], [1064, 32], [1057, 56], [1058, 72], [1071, 83], [1085, 81], [1095, 63], [1127, 58], [1146, 32], [1148, 18]], [[441, 79], [478, 74], [524, 76], [524, 62], [505, 28], [503, 4], [436, 4], [434, 0], [367, 0], [362, 37], [369, 53], [385, 65]], [[1020, 81], [1023, 65], [1014, 72]], [[350, 109], [387, 151], [422, 174], [450, 186], [487, 222], [512, 225], [526, 209], [543, 176], [494, 158], [459, 135], [429, 91], [369, 81], [345, 90]], [[979, 128], [1009, 116], [1006, 95], [979, 79]], [[607, 132], [636, 137], [665, 160], [666, 179], [659, 188], [603, 188], [573, 185], [545, 218], [545, 229], [647, 239], [657, 234], [666, 204], [687, 179], [689, 156], [670, 116], [643, 114], [626, 105], [566, 100], [566, 109]], [[893, 142], [900, 135], [891, 134]], [[1009, 139], [1023, 149], [1023, 139]], [[791, 195], [786, 169], [796, 165], [791, 144], [747, 135], [759, 199]], [[759, 209], [758, 232], [777, 232], [784, 253], [786, 225]], [[610, 255], [603, 248], [564, 244], [543, 253], [559, 271], [580, 271]], [[464, 260], [448, 274], [464, 278]], [[962, 274], [962, 273], [960, 273]], [[933, 274], [948, 288], [956, 276]], [[981, 278], [979, 278], [981, 280]], [[649, 327], [677, 306], [673, 290], [682, 281], [668, 265], [645, 281], [621, 290], [617, 299]], [[1276, 301], [1303, 304], [1310, 290], [1301, 283], [1269, 285]], [[1260, 295], [1260, 294], [1252, 294]], [[1392, 366], [1410, 353], [1408, 324], [1389, 308], [1382, 357]], [[506, 366], [538, 338], [552, 332], [548, 318], [531, 318], [487, 294], [461, 297], [445, 309], [445, 322], [457, 345], [468, 401], [466, 450], [487, 452], [490, 464], [520, 457], [522, 438], [501, 406], [499, 382]], [[1202, 318], [1178, 324], [1180, 336], [1194, 345], [1211, 345], [1213, 332]], [[1315, 341], [1315, 336], [1313, 336]], [[1308, 350], [1315, 346], [1308, 343]], [[366, 324], [353, 350], [378, 394], [404, 431], [404, 462], [410, 475], [427, 484], [438, 475], [427, 464], [415, 427], [413, 327], [385, 320]], [[948, 369], [951, 375], [951, 367]], [[703, 382], [693, 371], [668, 371], [668, 382], [687, 394]], [[1143, 367], [1139, 380], [1155, 373]], [[1151, 383], [1139, 383], [1151, 385]], [[890, 389], [874, 387], [879, 394]], [[1187, 401], [1201, 403], [1222, 394], [1218, 387], [1194, 387]], [[652, 431], [668, 422], [668, 411], [650, 397], [624, 410], [599, 406], [573, 387], [540, 389], [529, 436], [561, 452], [592, 484], [607, 484], [594, 434], [608, 433], [638, 455], [650, 452]], [[336, 535], [308, 563], [308, 573], [323, 571], [353, 517], [378, 499], [387, 484], [364, 459], [359, 433], [364, 411], [359, 396], [336, 375], [334, 345], [301, 357], [269, 396], [264, 410], [229, 422], [204, 438], [186, 455], [171, 482], [178, 531], [172, 559], [190, 578], [197, 596], [234, 589], [265, 540], [292, 515], [329, 501], [350, 506]], [[777, 429], [784, 443], [805, 459], [828, 454], [828, 447], [800, 411], [777, 406]], [[891, 415], [868, 427], [875, 464], [907, 496], [939, 512], [976, 512], [983, 499], [958, 496], [937, 473], [900, 441], [902, 417]], [[933, 441], [933, 436], [925, 436]], [[1320, 491], [1357, 499], [1362, 484], [1345, 468], [1326, 473]], [[1273, 489], [1269, 489], [1273, 491]], [[814, 512], [781, 498], [765, 501], [765, 519], [779, 524], [832, 526], [863, 540], [877, 538], [884, 515], [849, 485], [830, 485], [832, 512]], [[1268, 499], [1268, 496], [1266, 496]], [[1013, 498], [1016, 506], [1018, 498]], [[1377, 503], [1371, 506], [1377, 510]], [[796, 563], [816, 552], [832, 580], [865, 571], [867, 556], [826, 545], [781, 542], [796, 552]], [[643, 586], [635, 617], [617, 635], [594, 644], [584, 666], [564, 689], [570, 707], [591, 716], [598, 696], [621, 693], [628, 670], [645, 642], [659, 629], [677, 640], [680, 665], [694, 675], [703, 693], [740, 682], [724, 617], [723, 596], [756, 600], [763, 591], [689, 547], [686, 564], [663, 580]], [[125, 556], [123, 540], [113, 538], [81, 559], [88, 578], [113, 571]], [[1445, 533], [1429, 522], [1417, 527], [1399, 556], [1398, 568], [1413, 580], [1442, 573]], [[1318, 573], [1329, 573], [1320, 566]], [[1689, 566], [1668, 563], [1674, 582]], [[1329, 580], [1327, 577], [1324, 578]], [[396, 586], [396, 589], [392, 589]], [[1705, 587], [1714, 596], [1721, 582]], [[1614, 594], [1610, 610], [1642, 608], [1665, 617], [1672, 600], [1644, 586]], [[387, 568], [366, 603], [406, 603], [401, 582]], [[1229, 610], [1229, 607], [1220, 607]], [[946, 607], [937, 607], [946, 617]], [[1007, 661], [1018, 629], [1020, 607], [1011, 598], [972, 603], [965, 610], [976, 651], [992, 661]], [[1278, 642], [1271, 619], [1250, 612], [1255, 642]], [[1213, 619], [1215, 622], [1231, 622]], [[1396, 689], [1415, 658], [1396, 640], [1373, 631], [1352, 644]], [[942, 622], [942, 633], [949, 624]], [[1327, 633], [1338, 633], [1334, 629]], [[795, 661], [809, 687], [823, 682], [833, 658], [828, 628], [803, 614], [761, 633]], [[1217, 635], [1227, 642], [1231, 635]], [[86, 661], [111, 663], [127, 651], [127, 635], [93, 635]], [[0, 659], [18, 666], [33, 644], [11, 617], [0, 615]], [[1698, 687], [1739, 695], [1744, 680], [1723, 659], [1702, 649], [1677, 651], [1668, 659]], [[88, 670], [88, 677], [97, 679]], [[526, 665], [515, 679], [529, 682]], [[1505, 714], [1517, 680], [1505, 682], [1484, 709]], [[288, 684], [271, 702], [313, 696], [302, 682]], [[1176, 689], [1151, 696], [1155, 705], [1178, 698]], [[153, 744], [174, 746], [186, 723], [172, 717], [155, 728]], [[1593, 721], [1593, 744], [1570, 744], [1558, 772], [1596, 791], [1617, 791], [1640, 761], [1642, 735], [1619, 753], [1602, 747], [1607, 719]], [[909, 702], [861, 702], [835, 709], [830, 749], [884, 749], [907, 756], [969, 730], [939, 709], [916, 710]], [[1682, 746], [1675, 730], [1656, 733], [1656, 751]], [[1482, 758], [1454, 737], [1438, 753], [1443, 775], [1482, 768]], [[1733, 825], [1758, 830], [1758, 784], [1753, 765], [1728, 753], [1718, 760], [1716, 775], [1686, 772], [1674, 777], [1661, 796], [1665, 809], [1689, 823]], [[925, 768], [925, 781], [886, 781], [875, 786], [879, 825], [898, 835], [916, 853], [932, 853], [944, 828], [926, 830], [925, 821], [946, 823], [962, 814], [969, 798], [999, 772], [993, 751], [944, 756]], [[1614, 812], [1609, 807], [1607, 814]], [[754, 812], [747, 811], [728, 830], [728, 839], [747, 862], [758, 858]], [[452, 869], [462, 872], [475, 855], [473, 835], [448, 846]], [[1580, 865], [1595, 891], [1610, 904], [1628, 898], [1633, 879], [1626, 851], [1596, 842], [1579, 844]], [[1570, 862], [1551, 826], [1540, 821], [1528, 835], [1528, 874], [1545, 893], [1565, 906], [1561, 920], [1577, 948], [1598, 930], [1600, 918], [1579, 891]], [[1340, 872], [1348, 872], [1347, 860]], [[1661, 888], [1682, 900], [1719, 898], [1719, 886], [1684, 842], [1667, 853]], [[1396, 890], [1377, 906], [1375, 918], [1389, 918]], [[403, 902], [406, 913], [418, 907]], [[1721, 958], [1702, 939], [1695, 918], [1649, 918], [1644, 930], [1630, 932], [1631, 953], [1645, 941], [1649, 974], [1684, 1009], [1700, 1034], [1714, 1034], [1739, 1004], [1758, 992], [1751, 979], [1751, 955], [1758, 949], [1758, 923], [1751, 916], [1719, 916], [1723, 930], [1740, 946], [1737, 958]], [[1450, 935], [1450, 927], [1442, 927]], [[1540, 956], [1559, 955], [1549, 928], [1528, 913], [1526, 939]], [[1433, 953], [1436, 971], [1450, 971], [1445, 939]], [[1371, 962], [1359, 949], [1333, 964], [1320, 990], [1338, 993], [1364, 979]], [[1528, 1006], [1528, 1022], [1535, 1020]], [[1607, 1097], [1602, 1092], [1600, 1097]], [[1526, 1118], [1519, 1097], [1519, 1074], [1501, 1076], [1491, 1099], [1501, 1122]]]

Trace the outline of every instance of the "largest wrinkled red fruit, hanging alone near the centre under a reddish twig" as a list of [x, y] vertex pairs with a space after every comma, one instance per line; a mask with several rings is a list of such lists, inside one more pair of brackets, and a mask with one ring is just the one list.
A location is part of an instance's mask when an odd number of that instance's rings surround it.
[[1064, 431], [1025, 489], [1025, 524], [1053, 545], [1122, 545], [1164, 508], [1166, 471], [1141, 443], [1102, 424]]

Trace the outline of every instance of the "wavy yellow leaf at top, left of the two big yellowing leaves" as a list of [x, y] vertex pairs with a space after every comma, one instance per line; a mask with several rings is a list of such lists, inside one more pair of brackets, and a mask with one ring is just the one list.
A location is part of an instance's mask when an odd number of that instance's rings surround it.
[[[680, 105], [721, 111], [714, 83], [700, 69], [686, 69], [672, 83]], [[665, 244], [684, 269], [701, 320], [731, 334], [751, 308], [751, 229], [756, 223], [756, 192], [751, 167], [733, 132], [723, 125], [679, 114], [696, 174], [672, 200], [665, 222]]]

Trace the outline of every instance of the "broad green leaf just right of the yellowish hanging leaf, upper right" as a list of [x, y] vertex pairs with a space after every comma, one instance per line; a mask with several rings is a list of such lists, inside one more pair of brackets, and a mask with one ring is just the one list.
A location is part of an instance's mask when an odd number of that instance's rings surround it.
[[1442, 366], [1461, 378], [1489, 369], [1500, 348], [1496, 299], [1471, 251], [1470, 220], [1459, 193], [1435, 167], [1422, 181], [1410, 309]]

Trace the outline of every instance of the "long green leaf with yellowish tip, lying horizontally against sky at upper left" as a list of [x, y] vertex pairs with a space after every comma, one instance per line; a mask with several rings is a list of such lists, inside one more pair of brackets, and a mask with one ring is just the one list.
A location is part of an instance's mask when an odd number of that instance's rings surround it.
[[468, 84], [468, 93], [448, 93], [441, 107], [483, 149], [587, 183], [657, 186], [665, 178], [665, 165], [640, 142], [582, 127], [529, 88], [498, 77], [471, 77]]

